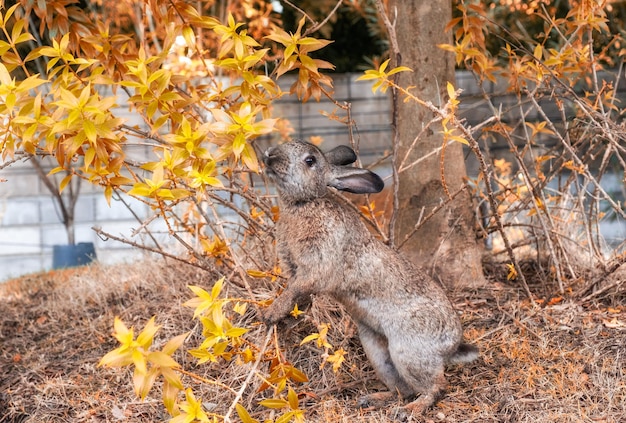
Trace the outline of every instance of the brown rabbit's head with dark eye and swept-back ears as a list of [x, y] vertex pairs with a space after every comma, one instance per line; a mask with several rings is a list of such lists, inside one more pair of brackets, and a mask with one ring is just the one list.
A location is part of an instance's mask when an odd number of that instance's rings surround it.
[[329, 186], [357, 194], [380, 192], [384, 182], [366, 169], [344, 166], [356, 160], [346, 146], [324, 154], [313, 144], [291, 141], [265, 151], [266, 174], [283, 200], [302, 202], [326, 195]]

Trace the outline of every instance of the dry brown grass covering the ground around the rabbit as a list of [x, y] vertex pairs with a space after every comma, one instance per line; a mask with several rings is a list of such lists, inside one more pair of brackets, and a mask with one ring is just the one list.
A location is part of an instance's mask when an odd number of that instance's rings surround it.
[[[180, 307], [187, 284], [210, 286], [214, 275], [156, 262], [93, 266], [26, 276], [0, 286], [0, 422], [166, 421], [159, 396], [139, 401], [128, 370], [102, 369], [100, 357], [116, 346], [110, 336], [115, 315], [143, 327], [152, 315], [163, 326], [157, 342], [194, 329], [192, 311]], [[261, 289], [261, 288], [259, 288]], [[267, 290], [265, 293], [267, 294]], [[256, 294], [255, 294], [256, 295]], [[263, 295], [263, 294], [259, 294]], [[562, 300], [531, 306], [519, 289], [493, 282], [488, 290], [454, 296], [466, 337], [481, 349], [470, 366], [451, 367], [446, 396], [429, 410], [433, 422], [620, 422], [626, 419], [626, 309], [583, 308]], [[262, 344], [267, 331], [252, 326], [246, 337]], [[338, 373], [319, 369], [322, 351], [300, 340], [330, 322], [330, 340], [348, 351]], [[196, 328], [197, 329], [197, 328]], [[319, 299], [307, 317], [279, 331], [287, 358], [310, 382], [300, 399], [312, 422], [389, 422], [394, 406], [359, 410], [358, 396], [380, 388], [360, 350], [350, 319]], [[188, 348], [192, 348], [190, 340]], [[187, 369], [238, 389], [249, 365], [232, 363]], [[266, 368], [261, 363], [261, 371]], [[233, 394], [187, 379], [205, 405], [223, 413]], [[242, 403], [254, 417], [271, 417], [257, 406], [254, 378]]]

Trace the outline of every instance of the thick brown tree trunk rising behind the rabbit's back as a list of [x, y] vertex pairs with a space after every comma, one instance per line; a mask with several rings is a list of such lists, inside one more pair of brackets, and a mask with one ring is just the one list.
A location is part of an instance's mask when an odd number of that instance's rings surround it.
[[[451, 2], [395, 0], [390, 2], [388, 12], [390, 20], [395, 19], [400, 52], [396, 59], [401, 63], [395, 65], [413, 69], [413, 72], [398, 74], [399, 85], [414, 87], [411, 92], [424, 101], [444, 104], [448, 99], [447, 82], [454, 83], [454, 58], [437, 45], [451, 41], [451, 35], [444, 32], [452, 16]], [[399, 173], [399, 209], [392, 229], [395, 244], [450, 288], [482, 285], [482, 245], [476, 239], [474, 206], [467, 190], [414, 231], [420, 217], [427, 217], [448, 201], [449, 196], [441, 177], [441, 125], [432, 124], [423, 130], [434, 115], [415, 102], [402, 100], [396, 101], [395, 165], [399, 169], [402, 164], [420, 162]], [[412, 147], [416, 137], [419, 138]], [[445, 185], [454, 196], [463, 187], [466, 177], [462, 144], [448, 144], [444, 154]], [[402, 163], [405, 156], [407, 160]], [[407, 239], [411, 233], [413, 235]]]

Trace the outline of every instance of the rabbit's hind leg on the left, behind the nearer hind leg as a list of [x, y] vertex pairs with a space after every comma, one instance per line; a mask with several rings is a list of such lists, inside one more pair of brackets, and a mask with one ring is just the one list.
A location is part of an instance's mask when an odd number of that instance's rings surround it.
[[378, 378], [389, 388], [387, 392], [362, 396], [358, 401], [359, 407], [379, 408], [396, 399], [398, 394], [403, 398], [412, 397], [415, 392], [402, 380], [391, 360], [387, 338], [366, 325], [359, 324], [358, 327], [361, 344], [367, 358], [372, 363]]

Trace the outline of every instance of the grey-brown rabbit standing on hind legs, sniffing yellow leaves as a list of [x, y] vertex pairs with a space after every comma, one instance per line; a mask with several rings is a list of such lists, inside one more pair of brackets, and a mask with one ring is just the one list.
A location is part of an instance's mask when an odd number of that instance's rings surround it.
[[390, 390], [361, 405], [396, 393], [420, 395], [406, 408], [422, 413], [445, 387], [445, 364], [470, 362], [478, 350], [462, 343], [461, 322], [443, 289], [329, 192], [329, 186], [358, 194], [382, 190], [375, 173], [345, 166], [355, 159], [349, 147], [324, 155], [303, 141], [265, 152], [280, 201], [278, 252], [290, 280], [263, 317], [275, 324], [312, 294], [330, 295], [356, 322], [367, 357]]

